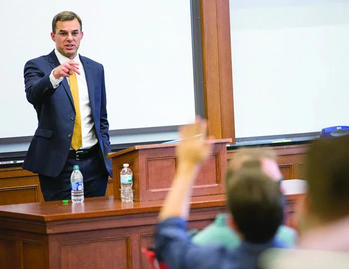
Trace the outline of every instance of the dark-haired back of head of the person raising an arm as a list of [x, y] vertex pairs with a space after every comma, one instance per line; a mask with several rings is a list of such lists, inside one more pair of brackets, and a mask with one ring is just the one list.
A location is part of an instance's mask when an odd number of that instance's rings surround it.
[[284, 198], [280, 185], [261, 169], [235, 170], [227, 203], [239, 232], [250, 243], [270, 241], [282, 224]]

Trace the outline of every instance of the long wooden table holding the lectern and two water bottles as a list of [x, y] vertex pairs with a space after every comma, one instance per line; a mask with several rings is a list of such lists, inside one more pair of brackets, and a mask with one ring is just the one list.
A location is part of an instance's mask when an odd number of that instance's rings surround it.
[[[1, 269], [140, 269], [153, 244], [163, 201], [121, 203], [110, 197], [0, 206]], [[189, 228], [225, 211], [225, 196], [193, 197]]]

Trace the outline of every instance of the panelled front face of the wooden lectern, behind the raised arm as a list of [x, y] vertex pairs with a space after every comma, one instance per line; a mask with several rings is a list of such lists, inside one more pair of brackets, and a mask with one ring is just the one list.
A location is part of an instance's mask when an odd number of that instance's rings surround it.
[[[192, 196], [224, 193], [225, 147], [224, 143], [213, 144], [212, 153], [195, 180]], [[177, 169], [175, 147], [142, 150], [139, 161], [140, 169], [144, 169], [139, 178], [140, 201], [165, 199]]]

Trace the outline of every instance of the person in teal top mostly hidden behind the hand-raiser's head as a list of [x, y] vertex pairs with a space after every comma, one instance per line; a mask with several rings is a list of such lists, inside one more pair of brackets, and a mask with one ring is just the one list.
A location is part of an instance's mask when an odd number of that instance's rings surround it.
[[[234, 171], [241, 167], [262, 169], [276, 182], [281, 183], [282, 175], [276, 163], [276, 155], [272, 150], [242, 148], [235, 152], [226, 175], [227, 185], [233, 178]], [[217, 214], [213, 223], [202, 231], [195, 233], [192, 242], [198, 245], [223, 244], [227, 248], [235, 249], [240, 245], [241, 239], [231, 226], [231, 218], [231, 214]], [[297, 232], [291, 227], [281, 225], [276, 238], [287, 247], [294, 247], [297, 241]]]

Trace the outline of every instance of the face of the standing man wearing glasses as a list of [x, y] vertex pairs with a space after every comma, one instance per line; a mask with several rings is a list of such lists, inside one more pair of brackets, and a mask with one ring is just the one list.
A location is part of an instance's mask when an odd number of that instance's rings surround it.
[[84, 33], [80, 31], [80, 23], [73, 20], [57, 21], [56, 33], [51, 33], [52, 40], [56, 43], [56, 49], [65, 57], [74, 59], [80, 47], [80, 41]]

